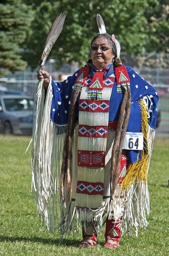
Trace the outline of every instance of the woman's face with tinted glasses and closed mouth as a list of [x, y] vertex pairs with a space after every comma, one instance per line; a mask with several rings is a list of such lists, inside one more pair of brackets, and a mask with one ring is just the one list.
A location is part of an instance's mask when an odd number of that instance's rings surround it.
[[[112, 53], [112, 47], [111, 43], [108, 39], [105, 37], [100, 37], [94, 40], [92, 47], [96, 47], [94, 50], [92, 50], [92, 61], [96, 68], [103, 69], [108, 64], [110, 64], [114, 58], [114, 55]], [[100, 49], [102, 47], [103, 51]]]

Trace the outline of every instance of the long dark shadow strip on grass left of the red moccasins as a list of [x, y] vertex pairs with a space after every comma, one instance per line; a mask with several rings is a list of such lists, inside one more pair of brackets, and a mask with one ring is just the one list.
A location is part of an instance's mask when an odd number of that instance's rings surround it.
[[63, 239], [60, 243], [60, 239], [45, 239], [40, 237], [13, 237], [13, 236], [0, 236], [0, 242], [32, 242], [32, 243], [44, 243], [55, 245], [76, 246], [79, 240], [76, 239]]

